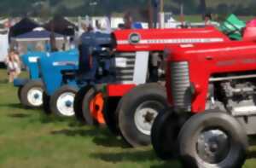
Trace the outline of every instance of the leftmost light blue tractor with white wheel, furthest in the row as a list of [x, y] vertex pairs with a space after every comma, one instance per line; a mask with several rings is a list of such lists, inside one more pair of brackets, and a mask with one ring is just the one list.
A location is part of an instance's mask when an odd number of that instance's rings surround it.
[[24, 107], [42, 107], [44, 84], [39, 75], [38, 59], [46, 57], [45, 52], [28, 52], [21, 55], [21, 61], [29, 72], [29, 78], [15, 78], [18, 97]]

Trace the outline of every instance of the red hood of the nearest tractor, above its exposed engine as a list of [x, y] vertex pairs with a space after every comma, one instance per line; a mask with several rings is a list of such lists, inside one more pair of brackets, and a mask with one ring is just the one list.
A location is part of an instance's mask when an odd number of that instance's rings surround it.
[[220, 72], [233, 69], [236, 72], [241, 71], [242, 66], [247, 69], [252, 64], [255, 69], [256, 43], [253, 42], [233, 41], [214, 45], [196, 43], [168, 46], [166, 50], [168, 62], [186, 61], [189, 62], [189, 66], [196, 65], [195, 67], [203, 67], [201, 69], [204, 70], [212, 68], [212, 72], [216, 69]]

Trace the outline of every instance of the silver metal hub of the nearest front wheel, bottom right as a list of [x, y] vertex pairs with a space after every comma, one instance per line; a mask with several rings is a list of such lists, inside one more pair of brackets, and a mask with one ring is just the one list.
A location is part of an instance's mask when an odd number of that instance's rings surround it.
[[229, 136], [222, 130], [201, 132], [196, 144], [199, 157], [210, 164], [221, 162], [230, 152]]

